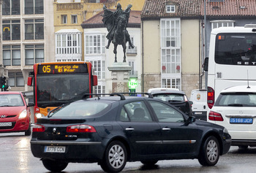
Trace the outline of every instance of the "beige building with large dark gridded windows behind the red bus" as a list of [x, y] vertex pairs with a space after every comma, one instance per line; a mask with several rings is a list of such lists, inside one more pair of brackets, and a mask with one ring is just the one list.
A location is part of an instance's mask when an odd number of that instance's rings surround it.
[[1, 4], [1, 62], [12, 91], [26, 85], [35, 63], [54, 57], [53, 0], [3, 0]]

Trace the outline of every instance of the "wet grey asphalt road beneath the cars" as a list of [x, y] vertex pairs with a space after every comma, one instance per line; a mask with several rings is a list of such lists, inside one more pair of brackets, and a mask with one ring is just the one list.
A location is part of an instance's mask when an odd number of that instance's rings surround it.
[[[45, 173], [48, 172], [39, 158], [30, 150], [30, 138], [24, 133], [0, 134], [0, 173]], [[155, 166], [143, 166], [140, 162], [127, 163], [123, 172], [256, 172], [256, 147], [238, 150], [231, 147], [222, 155], [216, 166], [201, 166], [195, 160], [159, 161]], [[69, 164], [66, 173], [102, 172], [97, 164]]]

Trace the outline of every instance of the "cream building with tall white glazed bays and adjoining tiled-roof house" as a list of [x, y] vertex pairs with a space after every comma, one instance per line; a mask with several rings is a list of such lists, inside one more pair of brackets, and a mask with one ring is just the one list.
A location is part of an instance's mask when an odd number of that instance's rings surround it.
[[252, 0], [146, 0], [141, 14], [143, 91], [179, 88], [189, 96], [193, 89], [206, 88], [203, 62], [211, 30], [255, 23], [255, 5]]

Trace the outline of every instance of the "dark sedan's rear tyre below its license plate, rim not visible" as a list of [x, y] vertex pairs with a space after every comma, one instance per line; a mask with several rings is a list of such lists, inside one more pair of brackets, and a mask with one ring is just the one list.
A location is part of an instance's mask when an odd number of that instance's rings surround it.
[[61, 172], [67, 167], [66, 162], [62, 161], [52, 161], [50, 159], [43, 159], [42, 164], [51, 172]]

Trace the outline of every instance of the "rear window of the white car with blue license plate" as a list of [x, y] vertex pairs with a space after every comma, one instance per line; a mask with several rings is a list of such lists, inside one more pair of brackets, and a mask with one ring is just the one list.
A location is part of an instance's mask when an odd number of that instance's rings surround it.
[[220, 93], [215, 106], [256, 107], [256, 93]]

